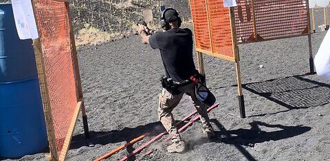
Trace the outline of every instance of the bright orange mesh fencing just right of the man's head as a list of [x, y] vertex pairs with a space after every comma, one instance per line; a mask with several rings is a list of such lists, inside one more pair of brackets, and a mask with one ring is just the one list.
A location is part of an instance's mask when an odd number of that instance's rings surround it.
[[223, 0], [190, 0], [196, 50], [234, 61], [229, 8]]

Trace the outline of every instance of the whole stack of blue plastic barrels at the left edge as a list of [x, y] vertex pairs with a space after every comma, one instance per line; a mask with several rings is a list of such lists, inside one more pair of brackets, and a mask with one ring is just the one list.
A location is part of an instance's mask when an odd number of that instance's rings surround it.
[[10, 3], [0, 3], [0, 156], [47, 147], [32, 40], [19, 40]]

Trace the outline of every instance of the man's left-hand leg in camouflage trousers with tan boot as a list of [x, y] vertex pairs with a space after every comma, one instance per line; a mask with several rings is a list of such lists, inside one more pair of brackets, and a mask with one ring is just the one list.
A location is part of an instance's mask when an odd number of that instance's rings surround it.
[[184, 143], [181, 140], [180, 134], [175, 126], [175, 119], [172, 111], [177, 106], [182, 98], [183, 93], [179, 95], [172, 95], [165, 88], [159, 94], [158, 117], [162, 125], [165, 127], [168, 134], [171, 136], [173, 145], [168, 147], [168, 152], [182, 152], [184, 151]]

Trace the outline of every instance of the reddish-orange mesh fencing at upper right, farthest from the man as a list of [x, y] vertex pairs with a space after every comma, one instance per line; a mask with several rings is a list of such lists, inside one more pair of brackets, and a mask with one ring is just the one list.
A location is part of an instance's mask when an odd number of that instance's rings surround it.
[[309, 33], [306, 0], [237, 0], [236, 2], [235, 25], [238, 42]]

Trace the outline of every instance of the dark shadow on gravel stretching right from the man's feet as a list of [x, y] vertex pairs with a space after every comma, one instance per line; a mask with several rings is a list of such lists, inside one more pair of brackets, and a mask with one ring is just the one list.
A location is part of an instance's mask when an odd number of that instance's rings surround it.
[[[227, 130], [219, 123], [217, 119], [210, 120], [217, 126], [219, 131], [216, 131], [217, 137], [213, 138], [213, 142], [220, 142], [234, 145], [247, 160], [256, 160], [243, 146], [254, 147], [256, 143], [263, 143], [270, 140], [281, 140], [284, 138], [291, 138], [308, 132], [311, 127], [307, 126], [284, 126], [284, 125], [270, 125], [260, 121], [253, 121], [250, 123], [250, 129], [233, 129]], [[265, 132], [261, 127], [274, 128], [272, 132]]]

